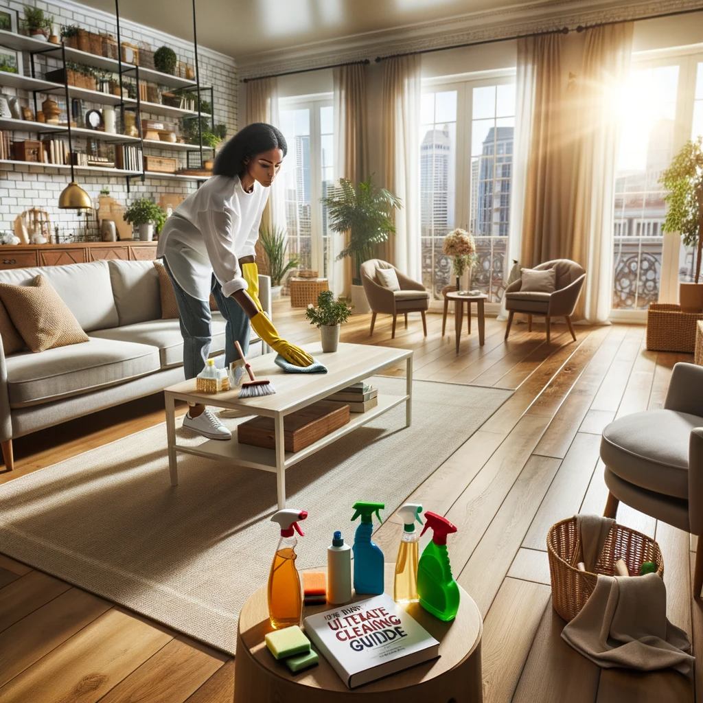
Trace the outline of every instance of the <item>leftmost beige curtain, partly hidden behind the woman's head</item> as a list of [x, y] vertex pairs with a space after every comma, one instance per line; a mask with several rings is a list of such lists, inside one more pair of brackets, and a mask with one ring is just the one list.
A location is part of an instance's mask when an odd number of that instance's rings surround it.
[[[268, 122], [275, 127], [280, 126], [278, 120], [278, 79], [262, 78], [245, 83], [244, 126], [252, 122]], [[283, 212], [283, 179], [273, 181], [269, 201], [266, 202], [262, 215], [262, 228], [271, 226], [285, 228], [285, 213]], [[259, 273], [268, 273], [268, 262], [262, 245], [257, 241], [257, 266]]]

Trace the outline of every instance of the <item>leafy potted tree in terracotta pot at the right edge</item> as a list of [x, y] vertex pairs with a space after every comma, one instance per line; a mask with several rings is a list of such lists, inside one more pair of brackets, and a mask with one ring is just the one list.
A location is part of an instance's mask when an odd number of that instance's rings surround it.
[[701, 250], [703, 248], [703, 136], [685, 143], [673, 157], [671, 165], [659, 176], [666, 188], [664, 201], [668, 206], [664, 232], [678, 232], [686, 247], [695, 247], [695, 278], [693, 283], [678, 284], [678, 299], [684, 312], [703, 309]]

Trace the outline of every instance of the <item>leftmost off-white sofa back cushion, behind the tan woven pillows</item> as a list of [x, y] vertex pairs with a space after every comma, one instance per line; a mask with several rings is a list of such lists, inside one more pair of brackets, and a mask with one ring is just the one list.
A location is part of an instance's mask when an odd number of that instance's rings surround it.
[[120, 323], [112, 297], [108, 262], [7, 269], [0, 271], [0, 283], [32, 285], [39, 273], [51, 283], [86, 332], [117, 327]]

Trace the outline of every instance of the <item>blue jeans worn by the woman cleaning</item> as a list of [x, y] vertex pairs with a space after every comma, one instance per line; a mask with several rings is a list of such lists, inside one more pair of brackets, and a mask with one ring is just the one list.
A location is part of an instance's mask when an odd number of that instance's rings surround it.
[[[176, 303], [178, 304], [181, 335], [183, 335], [183, 370], [186, 373], [186, 378], [195, 378], [205, 368], [210, 342], [212, 342], [210, 305], [207, 300], [198, 300], [192, 295], [188, 295], [174, 278], [166, 259], [163, 261], [171, 283], [174, 285]], [[229, 366], [232, 361], [239, 359], [234, 340], [241, 344], [245, 354], [249, 351], [249, 318], [234, 298], [222, 295], [222, 287], [214, 273], [212, 275], [212, 295], [214, 295], [219, 311], [227, 321], [224, 335], [224, 359], [226, 365]]]

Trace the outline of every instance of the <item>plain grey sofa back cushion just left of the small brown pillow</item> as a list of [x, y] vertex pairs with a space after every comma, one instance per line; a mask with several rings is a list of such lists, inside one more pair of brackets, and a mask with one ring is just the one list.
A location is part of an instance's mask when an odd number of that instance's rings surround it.
[[152, 262], [108, 262], [120, 326], [161, 317], [159, 275]]

